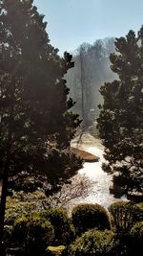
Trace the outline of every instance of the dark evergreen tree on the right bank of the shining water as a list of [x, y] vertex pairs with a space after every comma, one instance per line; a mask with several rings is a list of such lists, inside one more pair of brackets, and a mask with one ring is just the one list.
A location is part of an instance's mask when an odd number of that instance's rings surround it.
[[[135, 35], [116, 38], [111, 55], [118, 81], [105, 83], [100, 92], [98, 128], [113, 182], [127, 195], [143, 198], [143, 27]], [[107, 167], [106, 167], [107, 168]]]

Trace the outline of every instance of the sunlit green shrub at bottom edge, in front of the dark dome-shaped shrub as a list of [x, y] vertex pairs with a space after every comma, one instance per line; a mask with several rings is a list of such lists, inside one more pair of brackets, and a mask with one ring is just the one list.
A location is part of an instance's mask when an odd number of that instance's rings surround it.
[[110, 256], [114, 234], [111, 230], [99, 231], [90, 230], [70, 246], [70, 256]]

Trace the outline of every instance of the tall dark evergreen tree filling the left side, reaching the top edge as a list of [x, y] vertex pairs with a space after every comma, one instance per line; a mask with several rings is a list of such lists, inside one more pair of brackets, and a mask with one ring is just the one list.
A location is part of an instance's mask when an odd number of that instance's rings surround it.
[[[0, 243], [9, 177], [40, 172], [51, 183], [55, 174], [48, 168], [50, 145], [69, 147], [79, 125], [69, 111], [73, 103], [63, 79], [73, 66], [72, 56], [57, 55], [44, 16], [32, 2], [0, 0]], [[56, 172], [56, 184], [74, 174]]]

